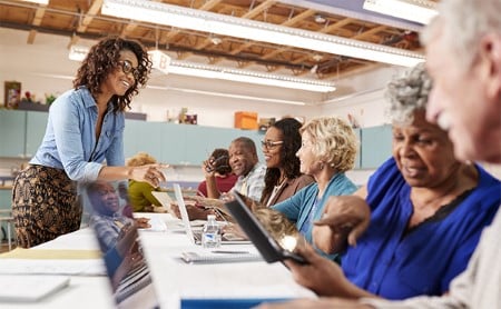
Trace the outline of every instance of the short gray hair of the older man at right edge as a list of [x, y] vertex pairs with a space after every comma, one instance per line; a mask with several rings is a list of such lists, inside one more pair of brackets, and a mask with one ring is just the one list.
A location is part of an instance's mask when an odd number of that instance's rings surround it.
[[423, 44], [429, 43], [436, 31], [443, 31], [445, 43], [468, 70], [478, 56], [482, 37], [492, 32], [501, 34], [501, 1], [442, 0], [439, 17], [421, 34]]

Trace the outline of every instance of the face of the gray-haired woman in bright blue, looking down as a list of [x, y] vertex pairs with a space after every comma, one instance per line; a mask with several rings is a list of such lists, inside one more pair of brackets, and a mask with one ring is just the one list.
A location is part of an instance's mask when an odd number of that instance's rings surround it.
[[424, 111], [414, 113], [410, 126], [393, 127], [393, 158], [411, 187], [441, 186], [458, 170], [453, 146], [446, 133], [424, 119]]

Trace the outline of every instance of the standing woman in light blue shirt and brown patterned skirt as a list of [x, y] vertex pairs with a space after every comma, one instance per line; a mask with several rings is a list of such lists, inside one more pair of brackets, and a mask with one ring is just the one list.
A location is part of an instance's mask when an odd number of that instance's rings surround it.
[[165, 180], [160, 165], [124, 166], [125, 110], [150, 69], [146, 49], [136, 41], [107, 38], [90, 49], [75, 88], [51, 104], [42, 143], [14, 180], [18, 246], [79, 229], [79, 181], [134, 179], [157, 187]]

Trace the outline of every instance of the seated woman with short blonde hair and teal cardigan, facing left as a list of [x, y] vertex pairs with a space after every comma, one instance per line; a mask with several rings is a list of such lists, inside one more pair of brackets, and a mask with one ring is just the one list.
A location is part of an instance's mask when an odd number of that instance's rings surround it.
[[[345, 176], [355, 165], [357, 140], [351, 126], [340, 118], [313, 119], [299, 129], [302, 144], [296, 156], [301, 172], [315, 182], [272, 208], [295, 222], [312, 242], [313, 222], [322, 216], [331, 196], [348, 196], [356, 186]], [[332, 257], [334, 258], [334, 257]]]

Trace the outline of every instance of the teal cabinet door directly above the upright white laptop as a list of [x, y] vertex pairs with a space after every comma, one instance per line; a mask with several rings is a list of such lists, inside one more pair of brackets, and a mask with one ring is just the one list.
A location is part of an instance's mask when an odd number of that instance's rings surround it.
[[160, 160], [169, 165], [187, 165], [186, 160], [186, 127], [188, 124], [159, 123], [159, 138], [156, 138], [160, 146]]

